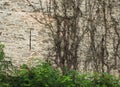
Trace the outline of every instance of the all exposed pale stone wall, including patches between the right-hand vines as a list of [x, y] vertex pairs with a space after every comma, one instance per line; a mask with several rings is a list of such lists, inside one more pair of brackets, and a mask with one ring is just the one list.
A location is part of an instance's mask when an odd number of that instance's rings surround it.
[[[23, 63], [29, 65], [36, 64], [38, 59], [43, 60], [47, 58], [48, 48], [52, 46], [50, 42], [52, 38], [49, 36], [49, 28], [38, 23], [38, 21], [33, 18], [36, 17], [44, 22], [44, 19], [42, 19], [43, 14], [39, 12], [41, 9], [39, 0], [29, 1], [30, 3], [28, 0], [0, 0], [0, 42], [5, 45], [4, 51], [6, 57], [11, 59], [13, 64], [16, 66], [20, 66]], [[42, 1], [43, 6], [46, 6], [46, 0]], [[83, 4], [85, 3], [83, 2]], [[83, 12], [84, 9], [85, 7], [82, 9]], [[118, 7], [114, 9], [116, 10], [113, 11], [113, 17], [120, 19], [120, 9]], [[81, 27], [84, 26], [84, 24], [82, 24], [83, 21], [84, 20], [82, 19], [80, 22]], [[94, 22], [98, 23], [97, 21]], [[110, 25], [112, 25], [112, 22], [110, 22]], [[118, 32], [120, 32], [120, 26], [118, 26], [118, 29]], [[98, 25], [96, 32], [95, 40], [100, 42], [102, 35], [104, 34], [104, 28]], [[111, 28], [109, 29], [109, 32], [111, 35], [108, 36], [107, 43], [109, 53], [108, 60], [110, 60], [110, 64], [112, 64], [113, 61], [111, 60], [114, 53], [113, 38], [115, 38], [115, 31], [113, 33], [113, 29]], [[83, 31], [81, 28], [80, 34], [82, 35], [82, 33]], [[84, 36], [85, 38], [82, 39], [79, 44], [80, 48], [78, 53], [78, 56], [80, 57], [78, 62], [80, 62], [81, 68], [84, 66], [84, 60], [87, 58], [88, 60], [91, 60], [88, 55], [90, 54], [90, 33], [88, 32]], [[115, 39], [119, 38], [116, 37]], [[98, 44], [96, 47], [99, 48], [100, 43], [96, 42], [96, 44]], [[118, 51], [120, 52], [120, 47]], [[117, 61], [118, 67], [120, 68], [119, 62], [120, 59]], [[87, 66], [89, 67], [89, 70], [92, 68], [92, 65], [90, 64]]]

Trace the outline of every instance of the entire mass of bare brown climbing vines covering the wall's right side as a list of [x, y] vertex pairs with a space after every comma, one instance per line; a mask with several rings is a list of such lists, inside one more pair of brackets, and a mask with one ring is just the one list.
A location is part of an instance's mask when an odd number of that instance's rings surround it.
[[[64, 67], [78, 69], [78, 64], [84, 62], [85, 70], [119, 72], [119, 0], [44, 1], [46, 6], [39, 0], [45, 22], [35, 19], [48, 26], [52, 33], [52, 54], [58, 67], [62, 70]], [[51, 18], [54, 19], [54, 26], [49, 22]], [[80, 53], [78, 50], [81, 50]]]

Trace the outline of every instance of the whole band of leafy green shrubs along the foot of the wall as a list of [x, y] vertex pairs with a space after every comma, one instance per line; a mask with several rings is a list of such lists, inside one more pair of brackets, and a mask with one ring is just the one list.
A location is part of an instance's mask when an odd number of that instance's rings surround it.
[[91, 75], [73, 70], [62, 75], [49, 63], [32, 68], [22, 65], [19, 70], [13, 70], [16, 73], [8, 74], [9, 67], [3, 61], [9, 62], [5, 61], [3, 48], [0, 44], [0, 87], [120, 87], [120, 79], [107, 73]]

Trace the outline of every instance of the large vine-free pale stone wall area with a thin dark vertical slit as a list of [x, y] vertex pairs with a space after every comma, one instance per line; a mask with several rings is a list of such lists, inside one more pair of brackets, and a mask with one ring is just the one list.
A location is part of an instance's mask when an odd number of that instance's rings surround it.
[[[32, 4], [38, 6], [36, 1]], [[0, 0], [0, 42], [5, 45], [6, 57], [17, 66], [32, 64], [31, 58], [43, 59], [47, 54], [49, 30], [31, 17], [42, 16], [33, 10], [27, 0]]]

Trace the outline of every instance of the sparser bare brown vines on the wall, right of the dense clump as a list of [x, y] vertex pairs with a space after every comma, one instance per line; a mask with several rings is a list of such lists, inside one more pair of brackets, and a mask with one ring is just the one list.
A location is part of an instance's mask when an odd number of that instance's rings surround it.
[[[120, 23], [115, 8], [119, 8], [117, 0], [87, 0], [86, 11], [88, 13], [89, 32], [90, 32], [90, 54], [86, 60], [93, 63], [94, 70], [97, 72], [108, 72], [120, 67]], [[116, 4], [116, 6], [114, 6]], [[120, 11], [120, 10], [119, 10]], [[114, 15], [114, 17], [113, 17]], [[120, 15], [120, 14], [119, 14]], [[116, 22], [115, 22], [116, 21]], [[97, 37], [99, 36], [99, 37]], [[115, 39], [116, 40], [112, 40]], [[113, 42], [114, 41], [114, 42]], [[116, 45], [114, 45], [116, 44]], [[112, 46], [113, 45], [113, 46]], [[89, 54], [88, 54], [89, 55]], [[117, 58], [116, 58], [117, 57]], [[86, 63], [87, 64], [87, 63]]]

